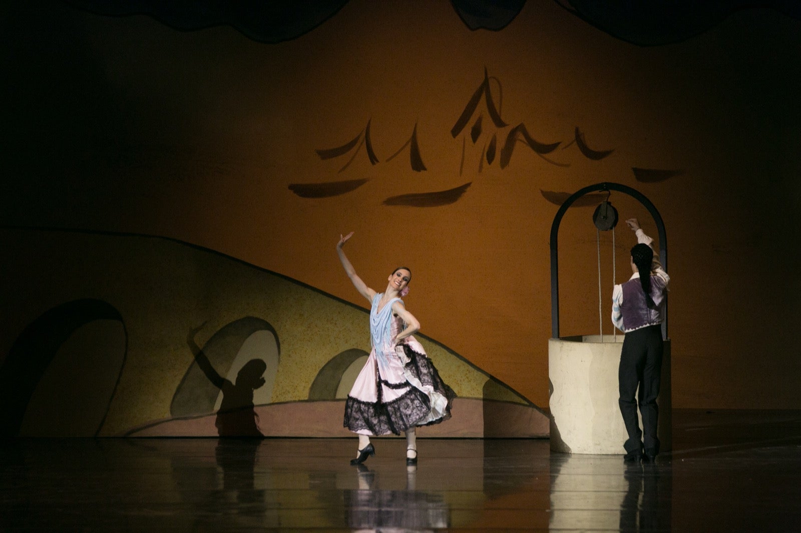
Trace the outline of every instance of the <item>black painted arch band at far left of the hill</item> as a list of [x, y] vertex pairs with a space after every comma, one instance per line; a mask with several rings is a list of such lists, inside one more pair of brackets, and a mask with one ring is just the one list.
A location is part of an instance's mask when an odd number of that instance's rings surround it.
[[[119, 320], [125, 329], [122, 315], [111, 304], [96, 299], [79, 299], [46, 311], [22, 331], [0, 367], [0, 436], [18, 435], [30, 397], [64, 341], [79, 327], [103, 319]], [[120, 374], [127, 357], [127, 337], [125, 330], [126, 350]], [[64, 379], [70, 379], [70, 376], [64, 376]], [[119, 375], [117, 381], [119, 383]], [[108, 399], [109, 404], [113, 397], [114, 392]], [[105, 416], [97, 431], [104, 422]]]

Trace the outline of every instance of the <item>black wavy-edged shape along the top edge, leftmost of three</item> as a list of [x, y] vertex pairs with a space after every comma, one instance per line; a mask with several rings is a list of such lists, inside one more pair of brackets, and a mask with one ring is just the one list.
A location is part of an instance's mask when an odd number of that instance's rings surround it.
[[274, 43], [298, 38], [315, 29], [348, 0], [67, 0], [67, 3], [96, 14], [147, 14], [183, 31], [231, 26], [254, 41]]

